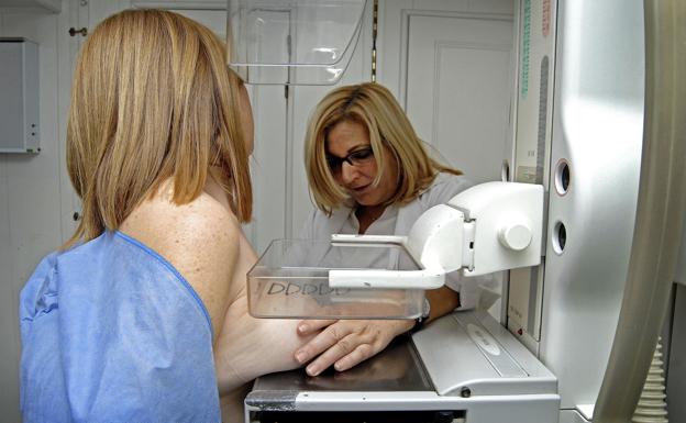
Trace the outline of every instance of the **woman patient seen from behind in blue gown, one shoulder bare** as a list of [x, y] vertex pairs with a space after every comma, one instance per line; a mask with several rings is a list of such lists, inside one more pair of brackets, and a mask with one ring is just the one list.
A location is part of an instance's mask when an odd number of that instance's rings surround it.
[[298, 366], [297, 322], [247, 314], [253, 122], [225, 64], [170, 12], [88, 35], [67, 127], [82, 219], [21, 292], [24, 422], [242, 421], [244, 383]]

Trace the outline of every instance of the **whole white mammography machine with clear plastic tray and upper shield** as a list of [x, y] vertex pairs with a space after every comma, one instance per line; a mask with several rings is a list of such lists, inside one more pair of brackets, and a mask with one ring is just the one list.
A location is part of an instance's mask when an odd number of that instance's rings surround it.
[[[338, 5], [353, 8], [340, 16], [354, 44], [364, 1]], [[335, 82], [352, 44], [261, 62], [251, 31], [269, 10], [229, 2], [232, 66], [248, 82]], [[454, 312], [348, 371], [261, 377], [246, 422], [663, 422], [665, 392], [684, 397], [686, 5], [521, 0], [516, 20], [508, 181], [429, 210], [407, 237], [275, 242], [248, 278], [259, 318], [412, 319], [446, 274], [511, 269], [505, 315]], [[357, 268], [373, 251], [381, 265]]]

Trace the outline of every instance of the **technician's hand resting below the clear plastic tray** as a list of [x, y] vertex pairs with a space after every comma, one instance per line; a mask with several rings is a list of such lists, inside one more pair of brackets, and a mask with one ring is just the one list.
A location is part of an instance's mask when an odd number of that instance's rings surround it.
[[338, 371], [347, 370], [386, 348], [413, 324], [413, 320], [306, 320], [298, 324], [298, 334], [319, 334], [296, 350], [296, 360], [305, 364], [317, 357], [306, 369], [310, 376], [331, 365]]

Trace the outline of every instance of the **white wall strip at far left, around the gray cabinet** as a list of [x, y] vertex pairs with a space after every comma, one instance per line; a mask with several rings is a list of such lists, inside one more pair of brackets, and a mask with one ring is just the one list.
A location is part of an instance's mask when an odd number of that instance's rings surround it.
[[0, 36], [26, 37], [38, 44], [41, 85], [41, 153], [0, 154], [1, 422], [20, 421], [19, 292], [40, 259], [59, 246], [73, 229], [68, 222], [74, 196], [64, 172], [60, 104], [65, 99], [59, 90], [60, 81], [70, 78], [65, 75], [70, 74], [69, 8], [67, 1], [63, 3], [59, 14], [0, 8]]

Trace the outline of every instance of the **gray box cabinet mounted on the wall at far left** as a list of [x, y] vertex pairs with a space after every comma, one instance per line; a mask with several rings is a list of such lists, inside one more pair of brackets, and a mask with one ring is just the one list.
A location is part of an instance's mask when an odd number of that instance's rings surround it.
[[0, 38], [0, 153], [38, 153], [38, 45]]

